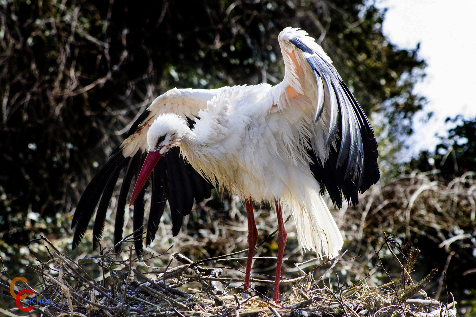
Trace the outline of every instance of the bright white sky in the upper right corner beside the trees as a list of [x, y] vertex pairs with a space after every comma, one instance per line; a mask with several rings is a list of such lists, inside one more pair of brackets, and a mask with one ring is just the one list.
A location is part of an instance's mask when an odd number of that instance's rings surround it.
[[426, 78], [415, 91], [426, 96], [425, 111], [435, 114], [426, 124], [415, 120], [409, 155], [434, 149], [435, 134], [446, 135], [446, 117], [476, 116], [476, 0], [380, 0], [388, 8], [384, 33], [402, 48], [415, 48], [428, 64]]

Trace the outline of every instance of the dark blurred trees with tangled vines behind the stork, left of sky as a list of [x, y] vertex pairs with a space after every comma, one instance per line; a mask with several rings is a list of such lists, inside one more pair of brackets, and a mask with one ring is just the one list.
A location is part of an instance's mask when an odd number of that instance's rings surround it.
[[[94, 4], [93, 4], [94, 3]], [[277, 36], [307, 30], [389, 142], [424, 99], [418, 47], [382, 34], [364, 0], [0, 2], [0, 232], [5, 245], [51, 231], [119, 144], [171, 87], [278, 83]], [[398, 148], [398, 142], [394, 148]], [[39, 214], [50, 223], [38, 224]]]

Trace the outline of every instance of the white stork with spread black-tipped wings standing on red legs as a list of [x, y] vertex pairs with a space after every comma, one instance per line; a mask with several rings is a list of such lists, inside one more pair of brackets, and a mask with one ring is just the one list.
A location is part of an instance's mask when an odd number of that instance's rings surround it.
[[[245, 202], [249, 250], [244, 293], [258, 239], [253, 200], [276, 204], [276, 303], [287, 240], [282, 204], [293, 214], [301, 248], [337, 255], [343, 240], [322, 194], [326, 188], [338, 208], [342, 194], [357, 204], [358, 192], [380, 177], [377, 142], [357, 100], [314, 38], [288, 27], [278, 40], [286, 71], [276, 86], [171, 89], [154, 100], [83, 193], [72, 221], [77, 226], [73, 248], [84, 236], [99, 198], [93, 244], [101, 238], [112, 191], [125, 168], [114, 241], [122, 239], [129, 186], [142, 163], [130, 204], [134, 203], [135, 231], [142, 226], [144, 193], [152, 183], [146, 244], [155, 237], [166, 200], [174, 235], [194, 200], [210, 196], [211, 184]], [[139, 231], [139, 252], [141, 237]]]

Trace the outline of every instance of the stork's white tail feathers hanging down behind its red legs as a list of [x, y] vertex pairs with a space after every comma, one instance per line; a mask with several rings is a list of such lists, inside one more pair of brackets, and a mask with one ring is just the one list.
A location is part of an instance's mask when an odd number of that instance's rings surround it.
[[329, 258], [336, 257], [344, 240], [322, 196], [307, 189], [303, 201], [293, 200], [288, 204], [293, 212], [301, 249], [313, 250], [317, 255]]

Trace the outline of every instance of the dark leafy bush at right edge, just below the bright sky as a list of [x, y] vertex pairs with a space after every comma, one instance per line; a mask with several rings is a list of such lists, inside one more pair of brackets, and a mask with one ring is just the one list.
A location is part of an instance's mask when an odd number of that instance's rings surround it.
[[435, 152], [421, 152], [410, 163], [411, 167], [420, 171], [439, 169], [446, 179], [476, 171], [476, 117], [466, 120], [457, 115], [446, 118], [448, 121], [459, 124], [448, 130], [448, 136], [440, 136], [441, 143], [436, 145]]

